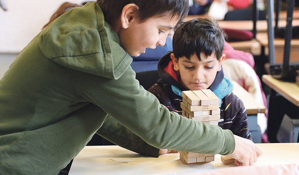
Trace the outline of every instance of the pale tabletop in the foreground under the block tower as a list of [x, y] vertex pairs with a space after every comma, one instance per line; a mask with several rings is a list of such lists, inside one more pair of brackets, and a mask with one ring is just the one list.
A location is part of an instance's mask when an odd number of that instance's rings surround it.
[[[256, 168], [298, 164], [298, 143], [257, 144], [257, 146], [263, 150], [263, 155], [255, 163]], [[69, 175], [186, 175], [190, 173], [195, 175], [200, 172], [220, 169], [225, 171], [227, 168], [236, 167], [235, 164], [223, 165], [220, 157], [215, 155], [215, 161], [210, 163], [184, 165], [179, 160], [179, 153], [151, 158], [119, 146], [87, 146], [74, 159]], [[130, 159], [133, 162], [119, 163], [110, 159]], [[227, 171], [226, 173], [229, 174]]]

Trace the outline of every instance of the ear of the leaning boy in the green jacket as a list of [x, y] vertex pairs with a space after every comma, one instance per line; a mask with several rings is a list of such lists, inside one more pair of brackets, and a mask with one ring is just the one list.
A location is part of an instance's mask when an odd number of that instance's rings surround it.
[[135, 3], [129, 3], [124, 6], [121, 14], [121, 23], [123, 28], [128, 28], [130, 23], [136, 19], [138, 6]]

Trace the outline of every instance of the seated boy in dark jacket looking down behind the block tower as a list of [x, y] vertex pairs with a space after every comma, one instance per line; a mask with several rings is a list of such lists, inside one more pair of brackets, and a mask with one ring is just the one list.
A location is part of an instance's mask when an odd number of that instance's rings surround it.
[[207, 18], [182, 23], [173, 35], [173, 52], [158, 63], [161, 77], [150, 89], [169, 111], [181, 114], [182, 91], [210, 89], [220, 99], [219, 126], [233, 134], [252, 139], [243, 102], [232, 93], [233, 84], [221, 67], [225, 58], [225, 35], [218, 24]]

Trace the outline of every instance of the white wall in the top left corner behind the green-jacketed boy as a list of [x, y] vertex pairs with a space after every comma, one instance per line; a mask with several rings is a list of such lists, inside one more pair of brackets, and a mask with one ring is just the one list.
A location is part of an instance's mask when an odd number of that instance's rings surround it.
[[[66, 1], [6, 0], [7, 11], [0, 8], [0, 53], [19, 53]], [[80, 4], [85, 1], [88, 0], [68, 2]]]

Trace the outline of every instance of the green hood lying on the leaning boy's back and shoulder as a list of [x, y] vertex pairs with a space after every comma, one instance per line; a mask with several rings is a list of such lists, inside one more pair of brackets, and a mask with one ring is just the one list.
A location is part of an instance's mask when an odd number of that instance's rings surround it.
[[113, 79], [133, 60], [96, 2], [55, 19], [40, 32], [39, 47], [48, 59], [62, 66]]

